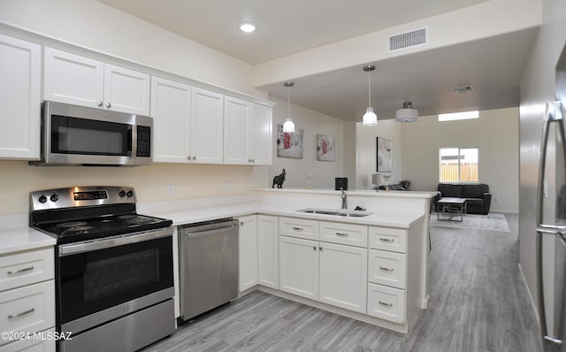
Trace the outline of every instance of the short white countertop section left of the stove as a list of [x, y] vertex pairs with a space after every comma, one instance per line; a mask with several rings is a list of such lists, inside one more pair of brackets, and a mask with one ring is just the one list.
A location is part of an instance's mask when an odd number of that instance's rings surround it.
[[20, 250], [54, 246], [55, 239], [31, 227], [13, 227], [0, 230], [0, 255]]

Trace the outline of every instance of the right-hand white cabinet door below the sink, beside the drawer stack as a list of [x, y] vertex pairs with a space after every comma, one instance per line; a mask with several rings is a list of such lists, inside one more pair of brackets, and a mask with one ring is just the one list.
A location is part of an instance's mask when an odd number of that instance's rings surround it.
[[318, 300], [365, 314], [368, 250], [319, 243]]

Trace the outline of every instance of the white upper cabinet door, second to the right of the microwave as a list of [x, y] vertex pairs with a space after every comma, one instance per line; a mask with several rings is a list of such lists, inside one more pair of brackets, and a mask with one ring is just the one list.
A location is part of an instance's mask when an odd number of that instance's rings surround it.
[[191, 109], [191, 161], [222, 164], [224, 96], [193, 87]]

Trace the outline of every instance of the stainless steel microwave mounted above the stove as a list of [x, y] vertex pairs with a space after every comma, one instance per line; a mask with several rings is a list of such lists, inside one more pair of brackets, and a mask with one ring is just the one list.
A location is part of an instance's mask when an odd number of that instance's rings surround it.
[[152, 130], [147, 116], [44, 102], [42, 158], [29, 164], [149, 165]]

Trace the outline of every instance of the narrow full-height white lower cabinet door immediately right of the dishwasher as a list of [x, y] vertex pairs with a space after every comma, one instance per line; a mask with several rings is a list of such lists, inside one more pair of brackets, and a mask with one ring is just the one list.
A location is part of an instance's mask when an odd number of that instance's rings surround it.
[[240, 221], [238, 247], [241, 292], [257, 285], [257, 216], [250, 215], [238, 220]]

